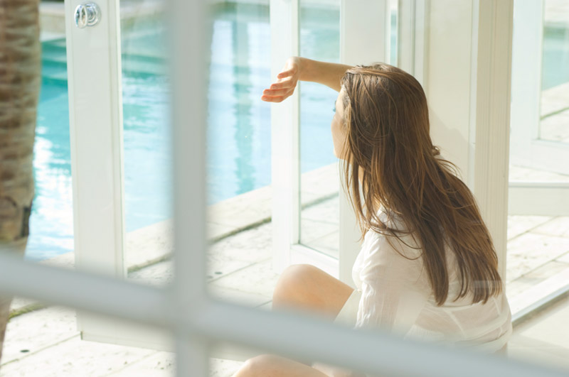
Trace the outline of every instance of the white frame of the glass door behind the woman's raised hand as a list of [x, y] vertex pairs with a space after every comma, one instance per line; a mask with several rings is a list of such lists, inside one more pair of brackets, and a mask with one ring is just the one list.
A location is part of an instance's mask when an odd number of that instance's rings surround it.
[[[271, 50], [271, 77], [276, 77], [289, 56], [299, 55], [299, 0], [271, 0], [270, 14], [271, 44], [280, 46]], [[340, 61], [353, 65], [384, 61], [389, 53], [389, 14], [388, 0], [341, 0]], [[369, 35], [383, 38], [369, 45]], [[339, 258], [304, 246], [300, 240], [299, 99], [297, 89], [285, 102], [271, 107], [273, 269], [280, 273], [291, 264], [309, 263], [353, 285], [351, 266], [360, 235], [340, 182]]]

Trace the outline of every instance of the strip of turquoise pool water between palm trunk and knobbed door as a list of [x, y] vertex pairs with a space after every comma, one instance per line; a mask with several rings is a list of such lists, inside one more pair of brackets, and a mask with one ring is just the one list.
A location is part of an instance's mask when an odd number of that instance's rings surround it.
[[[41, 91], [33, 173], [36, 195], [26, 259], [73, 261], [73, 192], [63, 3], [61, 16], [41, 28]], [[63, 256], [65, 254], [65, 256]]]

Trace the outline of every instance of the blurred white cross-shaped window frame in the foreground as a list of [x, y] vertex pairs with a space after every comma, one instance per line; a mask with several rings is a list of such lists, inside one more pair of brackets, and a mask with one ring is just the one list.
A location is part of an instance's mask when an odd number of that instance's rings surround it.
[[[177, 79], [172, 83], [176, 172], [174, 282], [168, 288], [154, 288], [129, 283], [108, 273], [42, 266], [1, 253], [0, 287], [4, 293], [166, 330], [175, 341], [177, 376], [208, 376], [208, 352], [217, 342], [318, 360], [374, 375], [565, 376], [553, 368], [522, 361], [420, 344], [385, 332], [349, 329], [314, 316], [255, 310], [210, 297], [206, 292], [206, 75], [203, 75], [207, 63], [201, 59], [206, 56], [206, 31], [210, 29], [206, 1], [179, 0], [169, 5], [174, 41], [171, 51], [175, 57], [171, 74]], [[511, 7], [504, 0], [484, 1], [479, 6], [478, 14], [494, 22], [496, 46], [486, 51], [493, 56], [508, 39], [508, 33], [504, 38], [496, 25], [506, 23], [503, 27], [507, 29]], [[495, 75], [501, 73], [498, 70]], [[492, 108], [491, 103], [488, 105]], [[346, 344], [351, 345], [347, 350]], [[413, 363], [402, 362], [401, 355]]]

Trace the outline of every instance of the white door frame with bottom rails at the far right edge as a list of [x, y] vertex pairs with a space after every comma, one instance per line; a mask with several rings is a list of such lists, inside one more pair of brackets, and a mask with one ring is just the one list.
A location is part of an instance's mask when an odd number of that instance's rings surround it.
[[[569, 173], [569, 144], [541, 140], [543, 0], [514, 1], [511, 160], [515, 165]], [[569, 216], [569, 184], [511, 182], [510, 214]]]

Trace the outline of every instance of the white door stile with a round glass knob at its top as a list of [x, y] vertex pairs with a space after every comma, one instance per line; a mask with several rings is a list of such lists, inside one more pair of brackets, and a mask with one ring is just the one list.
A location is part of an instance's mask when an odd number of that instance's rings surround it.
[[[99, 1], [102, 17], [75, 26], [79, 0], [65, 1], [73, 228], [76, 266], [123, 278], [124, 189], [119, 2]], [[102, 101], [101, 99], [105, 99]], [[100, 321], [78, 312], [84, 339]]]

